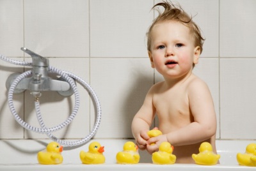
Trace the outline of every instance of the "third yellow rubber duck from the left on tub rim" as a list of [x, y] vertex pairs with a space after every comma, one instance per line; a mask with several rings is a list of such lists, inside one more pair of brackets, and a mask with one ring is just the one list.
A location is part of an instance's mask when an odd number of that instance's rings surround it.
[[125, 142], [124, 151], [116, 154], [116, 163], [118, 164], [136, 164], [140, 161], [138, 146], [133, 142]]

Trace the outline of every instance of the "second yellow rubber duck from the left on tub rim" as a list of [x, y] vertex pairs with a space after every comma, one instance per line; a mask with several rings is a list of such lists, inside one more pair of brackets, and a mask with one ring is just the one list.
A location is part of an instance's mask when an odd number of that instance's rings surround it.
[[101, 146], [99, 142], [92, 142], [89, 145], [89, 151], [80, 152], [80, 160], [84, 164], [102, 164], [105, 163], [104, 146]]

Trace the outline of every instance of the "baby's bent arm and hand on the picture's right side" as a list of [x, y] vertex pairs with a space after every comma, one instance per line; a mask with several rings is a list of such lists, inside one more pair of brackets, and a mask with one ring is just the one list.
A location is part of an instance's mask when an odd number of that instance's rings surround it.
[[156, 142], [157, 145], [147, 147], [149, 152], [157, 150], [159, 144], [168, 140], [172, 145], [196, 144], [211, 138], [216, 133], [216, 114], [207, 85], [202, 80], [194, 80], [188, 88], [189, 108], [194, 121], [179, 130], [166, 135], [150, 138], [148, 144]]

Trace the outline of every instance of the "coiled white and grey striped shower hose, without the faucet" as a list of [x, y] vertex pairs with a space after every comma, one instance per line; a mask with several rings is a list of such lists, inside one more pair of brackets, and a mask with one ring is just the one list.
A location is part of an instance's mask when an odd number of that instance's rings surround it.
[[[15, 61], [15, 60], [10, 59], [8, 57], [5, 57], [1, 54], [0, 54], [0, 59], [2, 59], [3, 61], [6, 61], [8, 63], [17, 64], [17, 65], [21, 65], [21, 66], [32, 66], [32, 63], [27, 63], [27, 62], [24, 62], [24, 61]], [[63, 123], [59, 124], [58, 126], [54, 126], [52, 128], [47, 128], [44, 124], [43, 119], [42, 119], [42, 115], [41, 115], [41, 112], [40, 112], [40, 103], [39, 103], [38, 98], [35, 98], [35, 111], [36, 111], [36, 117], [38, 119], [38, 123], [40, 124], [41, 128], [36, 128], [35, 126], [31, 126], [19, 117], [19, 115], [17, 114], [17, 112], [14, 108], [14, 105], [13, 105], [13, 92], [14, 92], [15, 87], [17, 86], [17, 84], [20, 82], [20, 80], [22, 80], [23, 78], [26, 78], [26, 77], [28, 77], [29, 75], [32, 74], [32, 70], [21, 73], [19, 75], [19, 77], [15, 78], [15, 80], [12, 82], [12, 84], [10, 86], [10, 89], [8, 91], [8, 105], [9, 105], [10, 111], [12, 112], [12, 115], [15, 118], [15, 120], [21, 126], [26, 128], [27, 130], [35, 131], [37, 133], [45, 133], [49, 138], [51, 138], [51, 140], [53, 140], [55, 142], [58, 142], [59, 144], [65, 146], [65, 147], [72, 147], [72, 146], [85, 144], [86, 142], [88, 142], [95, 135], [96, 131], [99, 128], [100, 119], [101, 119], [101, 108], [100, 108], [99, 99], [97, 98], [97, 96], [96, 96], [95, 92], [93, 91], [92, 87], [90, 87], [90, 85], [88, 85], [83, 79], [77, 77], [76, 75], [74, 75], [74, 74], [72, 74], [68, 71], [58, 70], [57, 68], [54, 68], [52, 66], [49, 66], [49, 71], [51, 73], [57, 73], [58, 75], [63, 77], [68, 82], [68, 84], [70, 84], [71, 89], [74, 91], [75, 105], [74, 105], [72, 114], [70, 114], [70, 116], [67, 118], [67, 120], [64, 121]], [[97, 117], [96, 117], [96, 120], [95, 120], [95, 124], [92, 128], [92, 131], [90, 131], [90, 133], [88, 135], [86, 135], [86, 137], [82, 138], [81, 140], [73, 140], [73, 141], [61, 140], [60, 138], [54, 137], [54, 135], [52, 135], [52, 132], [58, 131], [61, 128], [64, 128], [65, 126], [70, 124], [73, 121], [74, 117], [76, 116], [79, 105], [80, 105], [79, 93], [77, 91], [77, 86], [76, 86], [74, 80], [76, 80], [81, 85], [83, 85], [84, 88], [87, 89], [88, 93], [90, 93], [90, 96], [91, 96], [93, 102], [96, 105]]]

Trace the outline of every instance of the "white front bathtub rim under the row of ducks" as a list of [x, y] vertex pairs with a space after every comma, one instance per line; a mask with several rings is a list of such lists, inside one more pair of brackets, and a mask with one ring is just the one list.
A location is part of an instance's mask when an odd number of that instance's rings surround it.
[[162, 170], [162, 171], [206, 171], [206, 170], [224, 170], [224, 171], [233, 171], [233, 170], [255, 170], [255, 167], [244, 167], [239, 165], [210, 165], [210, 166], [204, 166], [204, 165], [195, 165], [195, 164], [173, 164], [173, 165], [154, 165], [150, 163], [138, 163], [135, 165], [119, 165], [119, 164], [100, 164], [100, 165], [84, 165], [84, 164], [60, 164], [60, 165], [40, 165], [40, 164], [17, 164], [17, 165], [0, 165], [0, 170], [48, 170], [48, 171], [54, 171], [54, 170], [76, 170], [76, 171], [82, 171], [82, 170], [106, 170], [106, 171], [120, 171], [120, 170]]

